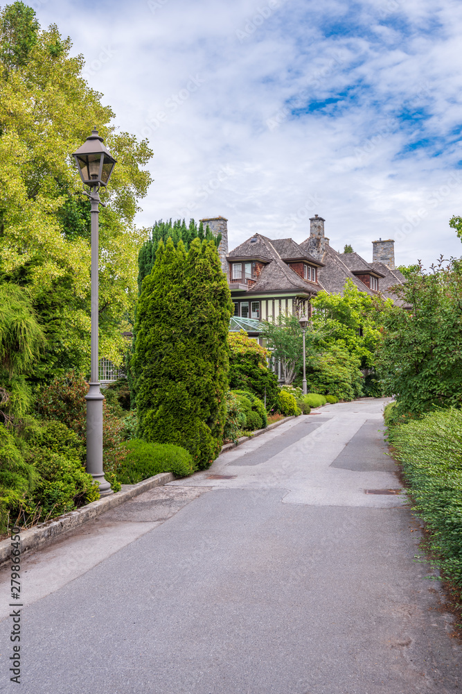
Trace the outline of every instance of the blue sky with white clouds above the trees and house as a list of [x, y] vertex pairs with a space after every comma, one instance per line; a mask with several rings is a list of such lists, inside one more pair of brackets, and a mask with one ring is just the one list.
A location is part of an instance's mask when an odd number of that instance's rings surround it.
[[397, 263], [462, 254], [459, 0], [33, 0], [87, 61], [116, 126], [147, 137], [139, 223], [229, 219]]

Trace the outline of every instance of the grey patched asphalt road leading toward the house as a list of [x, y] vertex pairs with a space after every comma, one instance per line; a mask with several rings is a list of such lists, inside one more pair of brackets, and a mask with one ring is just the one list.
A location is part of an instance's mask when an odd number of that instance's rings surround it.
[[20, 688], [3, 571], [0, 691], [459, 692], [383, 404], [296, 418], [24, 559]]

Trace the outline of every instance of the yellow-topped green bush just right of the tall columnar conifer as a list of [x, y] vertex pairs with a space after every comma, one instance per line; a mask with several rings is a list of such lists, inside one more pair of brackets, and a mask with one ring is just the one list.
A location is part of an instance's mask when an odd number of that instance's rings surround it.
[[278, 379], [268, 366], [271, 352], [254, 339], [248, 337], [245, 330], [229, 332], [229, 385], [255, 393], [260, 400], [265, 400], [267, 409], [278, 402]]

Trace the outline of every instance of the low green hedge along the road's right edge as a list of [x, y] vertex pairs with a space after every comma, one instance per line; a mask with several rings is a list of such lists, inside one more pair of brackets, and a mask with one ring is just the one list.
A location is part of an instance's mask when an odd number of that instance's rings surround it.
[[[393, 412], [394, 403], [387, 405]], [[389, 430], [415, 500], [431, 531], [443, 576], [462, 590], [462, 412], [445, 409]]]

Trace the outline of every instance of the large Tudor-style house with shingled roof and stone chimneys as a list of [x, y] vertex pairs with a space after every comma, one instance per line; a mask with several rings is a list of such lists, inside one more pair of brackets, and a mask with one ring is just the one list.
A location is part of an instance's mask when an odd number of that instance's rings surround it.
[[234, 303], [231, 331], [245, 328], [251, 337], [258, 337], [260, 321], [277, 319], [285, 312], [310, 316], [310, 301], [318, 291], [343, 294], [347, 280], [371, 296], [400, 303], [390, 289], [405, 282], [395, 268], [392, 239], [372, 242], [370, 263], [357, 253], [338, 253], [324, 233], [325, 219], [315, 214], [310, 219], [310, 236], [301, 244], [254, 234], [228, 251], [227, 219], [201, 221], [215, 235], [222, 235], [218, 252]]

